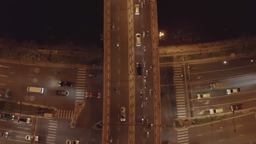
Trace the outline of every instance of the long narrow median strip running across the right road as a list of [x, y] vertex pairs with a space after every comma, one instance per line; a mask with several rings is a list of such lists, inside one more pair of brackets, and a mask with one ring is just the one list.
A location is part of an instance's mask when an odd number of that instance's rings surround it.
[[222, 115], [213, 115], [206, 117], [189, 117], [189, 118], [177, 118], [173, 120], [174, 129], [182, 129], [188, 127], [195, 127], [202, 124], [208, 124], [218, 121], [224, 121], [226, 119], [231, 119], [233, 117], [248, 115], [249, 113], [255, 113], [256, 109], [251, 109], [247, 111], [229, 112]]

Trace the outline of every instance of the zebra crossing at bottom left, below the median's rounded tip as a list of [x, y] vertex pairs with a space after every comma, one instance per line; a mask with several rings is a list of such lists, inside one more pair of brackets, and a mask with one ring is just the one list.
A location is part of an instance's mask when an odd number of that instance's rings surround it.
[[46, 143], [55, 144], [57, 126], [58, 126], [57, 121], [53, 121], [53, 120], [49, 121], [48, 135], [46, 136]]

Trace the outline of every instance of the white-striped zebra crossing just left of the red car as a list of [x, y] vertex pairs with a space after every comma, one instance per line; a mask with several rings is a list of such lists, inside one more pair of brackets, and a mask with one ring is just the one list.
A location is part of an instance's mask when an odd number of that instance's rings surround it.
[[75, 89], [75, 100], [84, 101], [85, 94], [85, 78], [86, 69], [78, 69], [77, 71], [77, 87]]

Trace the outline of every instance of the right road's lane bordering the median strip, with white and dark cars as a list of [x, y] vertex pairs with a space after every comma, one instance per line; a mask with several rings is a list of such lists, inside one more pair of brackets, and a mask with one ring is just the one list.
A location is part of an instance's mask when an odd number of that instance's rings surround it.
[[[222, 113], [227, 113], [227, 112], [232, 112], [230, 106], [232, 105], [238, 105], [238, 104], [243, 104], [245, 105], [245, 108], [242, 110], [237, 110], [238, 111], [243, 111], [246, 109], [251, 109], [255, 107], [256, 103], [256, 98], [254, 99], [249, 99], [249, 100], [243, 100], [243, 101], [234, 101], [232, 103], [219, 103], [218, 101], [221, 100], [216, 100], [215, 104], [205, 104], [205, 106], [194, 106], [194, 115], [195, 116], [206, 116], [210, 115], [210, 109], [217, 109], [217, 108], [222, 108], [223, 112]], [[203, 104], [201, 104], [203, 105]]]

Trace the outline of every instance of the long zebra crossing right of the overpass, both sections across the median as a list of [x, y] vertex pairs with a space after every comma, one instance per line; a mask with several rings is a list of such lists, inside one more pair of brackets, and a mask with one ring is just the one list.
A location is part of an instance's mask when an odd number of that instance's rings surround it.
[[[177, 115], [178, 118], [187, 117], [186, 104], [185, 104], [185, 87], [183, 84], [184, 72], [182, 71], [182, 65], [173, 66], [174, 74], [174, 86], [176, 95]], [[188, 144], [188, 128], [177, 130], [177, 139], [179, 144]]]

